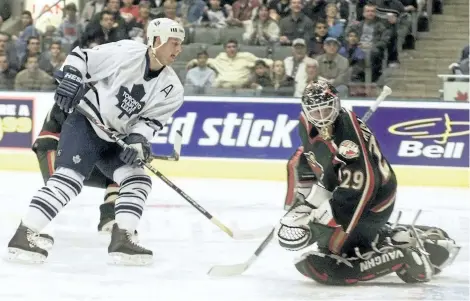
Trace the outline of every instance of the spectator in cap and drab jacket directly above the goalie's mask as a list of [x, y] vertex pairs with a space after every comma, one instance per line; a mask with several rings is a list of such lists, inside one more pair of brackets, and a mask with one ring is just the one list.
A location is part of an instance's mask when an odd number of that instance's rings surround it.
[[317, 57], [318, 74], [326, 78], [338, 90], [341, 97], [348, 96], [349, 63], [346, 58], [338, 54], [341, 44], [335, 38], [327, 38], [324, 48], [325, 54]]

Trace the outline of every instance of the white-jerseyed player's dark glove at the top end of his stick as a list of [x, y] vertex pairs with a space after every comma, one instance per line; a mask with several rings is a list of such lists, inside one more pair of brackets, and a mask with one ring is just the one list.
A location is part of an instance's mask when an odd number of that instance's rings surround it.
[[62, 111], [71, 113], [83, 96], [82, 74], [77, 68], [67, 65], [64, 66], [63, 75], [64, 77], [55, 92], [54, 100]]

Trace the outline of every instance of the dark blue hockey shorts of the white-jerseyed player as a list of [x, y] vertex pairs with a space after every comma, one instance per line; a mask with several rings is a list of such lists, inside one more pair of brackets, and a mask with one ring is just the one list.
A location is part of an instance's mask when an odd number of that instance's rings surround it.
[[119, 159], [121, 151], [116, 143], [101, 139], [86, 117], [73, 112], [62, 126], [55, 168], [70, 168], [85, 178], [98, 168], [112, 179], [114, 171], [124, 165]]

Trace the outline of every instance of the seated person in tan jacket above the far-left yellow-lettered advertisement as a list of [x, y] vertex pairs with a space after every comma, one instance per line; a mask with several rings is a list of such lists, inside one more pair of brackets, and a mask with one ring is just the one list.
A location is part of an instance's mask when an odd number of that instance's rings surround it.
[[54, 79], [39, 69], [38, 58], [35, 56], [28, 57], [26, 69], [20, 71], [15, 78], [17, 91], [51, 91], [54, 87]]

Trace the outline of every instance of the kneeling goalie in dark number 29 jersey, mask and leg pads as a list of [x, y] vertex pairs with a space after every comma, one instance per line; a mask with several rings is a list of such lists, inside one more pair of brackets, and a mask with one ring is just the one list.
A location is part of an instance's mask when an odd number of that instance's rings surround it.
[[395, 202], [395, 173], [372, 131], [341, 108], [333, 86], [310, 83], [302, 109], [303, 146], [288, 163], [289, 212], [277, 231], [288, 250], [317, 243], [318, 250], [296, 262], [297, 270], [334, 285], [393, 272], [405, 282], [429, 281], [459, 247], [441, 229], [413, 231], [412, 225], [387, 223]]

